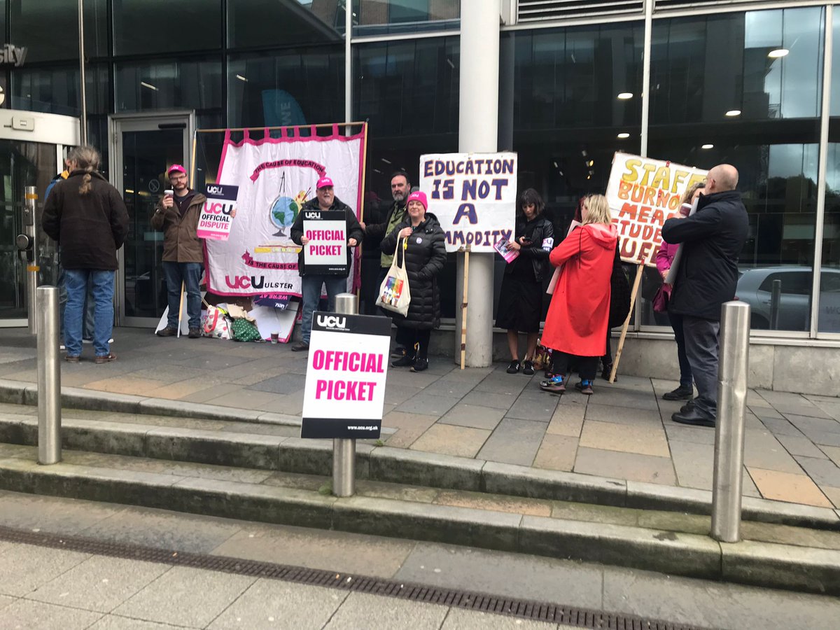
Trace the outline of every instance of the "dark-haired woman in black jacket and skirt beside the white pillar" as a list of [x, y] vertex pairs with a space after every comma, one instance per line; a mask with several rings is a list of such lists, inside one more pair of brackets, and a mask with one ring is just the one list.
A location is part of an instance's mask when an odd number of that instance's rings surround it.
[[[543, 278], [548, 274], [549, 252], [554, 247], [554, 226], [542, 216], [544, 205], [533, 188], [522, 193], [515, 239], [508, 244], [519, 256], [505, 267], [496, 311], [496, 328], [507, 328], [507, 346], [511, 351], [508, 374], [517, 374], [520, 367], [524, 374], [534, 372], [533, 354], [543, 315]], [[521, 366], [519, 333], [528, 335], [528, 350]]]

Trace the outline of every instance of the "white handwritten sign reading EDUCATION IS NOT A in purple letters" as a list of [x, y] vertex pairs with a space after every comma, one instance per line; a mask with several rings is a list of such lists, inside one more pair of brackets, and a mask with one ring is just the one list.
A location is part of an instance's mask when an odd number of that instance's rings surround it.
[[420, 190], [446, 234], [446, 250], [470, 245], [493, 252], [513, 238], [517, 154], [436, 153], [420, 156]]

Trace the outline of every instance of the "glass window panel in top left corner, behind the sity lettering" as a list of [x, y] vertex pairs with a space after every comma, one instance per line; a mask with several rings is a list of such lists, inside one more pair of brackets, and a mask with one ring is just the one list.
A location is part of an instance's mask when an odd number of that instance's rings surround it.
[[[78, 3], [67, 0], [8, 0], [8, 4], [12, 29], [9, 43], [27, 47], [27, 63], [79, 58]], [[0, 0], [2, 7], [3, 0]], [[106, 56], [108, 0], [85, 0], [84, 8], [85, 54], [89, 57]], [[4, 34], [3, 31], [0, 33]]]

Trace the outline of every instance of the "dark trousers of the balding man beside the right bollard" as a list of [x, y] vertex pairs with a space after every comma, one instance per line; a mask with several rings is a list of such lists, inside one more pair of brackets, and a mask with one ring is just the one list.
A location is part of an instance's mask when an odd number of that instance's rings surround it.
[[721, 323], [683, 316], [685, 354], [697, 386], [694, 408], [701, 416], [717, 417], [717, 335]]

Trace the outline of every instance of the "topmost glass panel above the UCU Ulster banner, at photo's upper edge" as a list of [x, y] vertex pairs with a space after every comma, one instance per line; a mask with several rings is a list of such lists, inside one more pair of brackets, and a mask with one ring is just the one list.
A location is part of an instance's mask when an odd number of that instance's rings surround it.
[[228, 46], [297, 46], [344, 41], [344, 3], [228, 2]]

